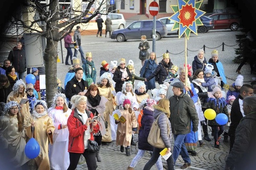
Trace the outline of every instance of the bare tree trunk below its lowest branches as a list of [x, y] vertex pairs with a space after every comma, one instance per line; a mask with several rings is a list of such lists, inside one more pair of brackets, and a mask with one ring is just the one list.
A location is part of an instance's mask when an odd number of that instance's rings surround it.
[[51, 100], [57, 93], [57, 48], [58, 42], [47, 39], [45, 48], [45, 78], [46, 78], [46, 102], [51, 106]]

